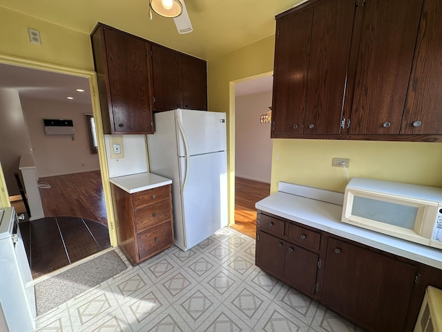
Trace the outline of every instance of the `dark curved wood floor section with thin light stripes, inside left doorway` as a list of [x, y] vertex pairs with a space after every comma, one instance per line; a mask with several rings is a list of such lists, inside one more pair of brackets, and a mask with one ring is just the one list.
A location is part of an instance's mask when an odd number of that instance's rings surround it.
[[108, 228], [88, 219], [49, 217], [19, 227], [34, 279], [111, 247]]

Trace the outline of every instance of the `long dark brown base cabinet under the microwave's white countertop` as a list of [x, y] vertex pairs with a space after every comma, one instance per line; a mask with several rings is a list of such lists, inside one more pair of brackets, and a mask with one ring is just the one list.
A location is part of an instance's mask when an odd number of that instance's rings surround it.
[[442, 270], [258, 210], [256, 266], [373, 332], [413, 331]]

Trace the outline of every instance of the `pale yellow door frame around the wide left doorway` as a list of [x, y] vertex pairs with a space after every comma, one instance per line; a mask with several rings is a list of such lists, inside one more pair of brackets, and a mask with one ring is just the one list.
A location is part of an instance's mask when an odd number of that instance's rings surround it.
[[[115, 232], [115, 218], [113, 215], [111, 183], [109, 182], [109, 171], [108, 171], [108, 164], [106, 158], [106, 145], [104, 143], [102, 113], [99, 107], [97, 74], [95, 73], [95, 71], [87, 71], [84, 69], [73, 68], [68, 66], [59, 66], [55, 64], [49, 64], [47, 62], [4, 55], [1, 53], [0, 53], [0, 63], [10, 64], [13, 66], [33, 68], [43, 71], [52, 71], [54, 73], [74, 75], [79, 77], [85, 77], [88, 79], [93, 116], [95, 118], [95, 124], [96, 124], [95, 130], [97, 131], [99, 169], [102, 175], [104, 202], [106, 204], [106, 214], [108, 219], [109, 239], [111, 239], [111, 246], [116, 247], [118, 245], [117, 233]], [[0, 206], [6, 206], [6, 207], [10, 206], [8, 189], [6, 188], [6, 183], [4, 181], [4, 174], [3, 170], [1, 169], [1, 165], [0, 165]]]

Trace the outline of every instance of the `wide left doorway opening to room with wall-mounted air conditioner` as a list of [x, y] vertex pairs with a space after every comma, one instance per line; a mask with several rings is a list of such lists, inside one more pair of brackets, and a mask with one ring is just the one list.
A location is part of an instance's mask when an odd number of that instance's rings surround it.
[[[85, 117], [97, 113], [97, 107], [93, 107], [93, 102], [95, 105], [97, 102], [90, 95], [95, 85], [90, 80], [95, 80], [95, 74], [73, 70], [70, 75], [64, 73], [70, 72], [68, 68], [52, 71], [35, 67], [3, 63], [0, 59], [0, 90], [6, 111], [3, 112], [6, 118], [0, 122], [3, 127], [20, 128], [15, 136], [10, 136], [10, 131], [0, 131], [0, 158], [6, 187], [12, 196], [18, 189], [12, 172], [18, 171], [20, 156], [30, 154], [35, 162], [45, 216], [21, 223], [20, 229], [26, 239], [32, 274], [38, 277], [108, 248], [113, 234], [107, 228], [108, 199], [102, 185], [102, 179], [108, 176], [107, 168], [106, 174], [100, 173], [106, 160], [103, 154], [92, 153]], [[11, 100], [12, 107], [8, 107]], [[46, 131], [44, 119], [66, 118], [73, 122], [69, 134], [52, 135]], [[101, 117], [98, 120], [101, 124]], [[97, 137], [99, 142], [100, 136]], [[71, 179], [66, 181], [66, 178]], [[79, 201], [79, 195], [89, 204]], [[86, 213], [91, 209], [94, 213]], [[97, 211], [102, 218], [97, 217]], [[73, 244], [71, 248], [67, 243]]]

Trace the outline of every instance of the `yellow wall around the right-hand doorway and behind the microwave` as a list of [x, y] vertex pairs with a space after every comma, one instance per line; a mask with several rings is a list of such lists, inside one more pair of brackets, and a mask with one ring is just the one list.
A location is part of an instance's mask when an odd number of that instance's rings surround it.
[[[262, 39], [221, 57], [209, 67], [209, 109], [229, 114], [229, 206], [234, 206], [234, 82], [273, 70], [273, 38]], [[442, 143], [354, 140], [273, 140], [271, 192], [278, 181], [343, 192], [347, 178], [332, 158], [349, 158], [349, 176], [442, 187]], [[230, 209], [229, 220], [234, 220]]]

